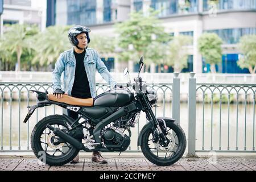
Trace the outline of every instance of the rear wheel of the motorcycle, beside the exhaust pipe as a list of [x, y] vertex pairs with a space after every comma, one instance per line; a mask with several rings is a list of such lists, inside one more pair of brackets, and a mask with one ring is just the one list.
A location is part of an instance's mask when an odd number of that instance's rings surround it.
[[61, 141], [46, 127], [49, 124], [65, 131], [67, 128], [63, 121], [65, 121], [63, 115], [49, 115], [36, 124], [31, 134], [31, 147], [36, 158], [49, 166], [62, 166], [79, 154], [79, 150]]

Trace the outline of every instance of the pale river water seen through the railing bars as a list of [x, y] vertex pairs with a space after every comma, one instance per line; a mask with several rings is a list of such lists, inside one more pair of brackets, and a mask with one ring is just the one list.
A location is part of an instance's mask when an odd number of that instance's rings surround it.
[[[30, 102], [29, 105], [36, 104], [35, 101]], [[158, 103], [159, 107], [156, 109], [156, 117], [165, 116], [171, 117], [172, 109], [171, 103], [168, 102], [165, 105], [163, 112], [163, 104]], [[10, 109], [11, 107], [11, 109]], [[54, 109], [55, 108], [55, 109]], [[3, 115], [2, 115], [3, 110]], [[11, 112], [10, 112], [11, 111]], [[19, 135], [21, 150], [27, 150], [27, 146], [30, 146], [30, 134], [35, 126], [36, 122], [44, 118], [46, 115], [62, 114], [63, 108], [59, 106], [47, 106], [37, 109], [32, 115], [29, 125], [24, 124], [23, 119], [27, 114], [27, 102], [13, 101], [11, 104], [8, 101], [3, 102], [3, 108], [0, 105], [0, 144], [3, 146], [3, 150], [10, 150], [10, 142], [13, 150], [18, 150]], [[155, 109], [154, 109], [155, 112]], [[19, 119], [20, 114], [20, 119]], [[212, 117], [211, 117], [212, 116]], [[3, 118], [3, 120], [2, 120]], [[220, 123], [221, 120], [221, 123]], [[246, 125], [245, 125], [246, 121]], [[238, 125], [237, 125], [238, 122]], [[238, 121], [237, 121], [237, 106], [236, 104], [230, 105], [229, 125], [228, 125], [228, 105], [222, 104], [221, 119], [220, 119], [220, 106], [219, 104], [213, 105], [213, 114], [211, 115], [210, 104], [205, 104], [204, 113], [204, 147], [205, 150], [210, 150], [212, 143], [213, 150], [219, 150], [221, 146], [222, 150], [228, 149], [228, 142], [230, 150], [236, 150], [236, 143], [238, 143], [238, 150], [244, 150], [245, 143], [247, 150], [253, 148], [253, 132], [255, 131], [253, 123], [253, 104], [247, 104], [246, 106], [246, 118], [245, 118], [245, 105], [238, 105]], [[146, 123], [146, 117], [144, 113], [141, 113], [139, 123], [131, 129], [131, 150], [137, 150], [137, 138], [138, 131]], [[180, 125], [185, 131], [188, 138], [188, 108], [187, 103], [180, 105]], [[19, 134], [20, 126], [20, 134]], [[221, 126], [221, 127], [220, 127]], [[228, 135], [229, 130], [229, 135]], [[237, 133], [238, 132], [238, 133]], [[221, 141], [220, 141], [221, 134]], [[237, 135], [238, 134], [238, 135]], [[212, 135], [212, 141], [211, 141]], [[11, 141], [10, 141], [11, 136]], [[245, 140], [246, 136], [246, 140]], [[228, 141], [229, 138], [229, 141]], [[203, 105], [196, 105], [196, 150], [201, 150], [203, 146]], [[31, 148], [30, 148], [31, 149]], [[0, 151], [1, 152], [1, 151]]]

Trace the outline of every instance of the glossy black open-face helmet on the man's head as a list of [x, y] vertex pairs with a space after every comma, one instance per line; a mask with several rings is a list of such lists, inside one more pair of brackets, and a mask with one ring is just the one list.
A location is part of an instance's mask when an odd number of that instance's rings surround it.
[[81, 49], [80, 47], [77, 46], [79, 44], [79, 41], [77, 40], [76, 36], [79, 34], [85, 33], [87, 36], [87, 43], [89, 44], [90, 43], [89, 32], [90, 32], [90, 29], [87, 27], [75, 26], [69, 29], [68, 39], [73, 46], [76, 46], [78, 49]]

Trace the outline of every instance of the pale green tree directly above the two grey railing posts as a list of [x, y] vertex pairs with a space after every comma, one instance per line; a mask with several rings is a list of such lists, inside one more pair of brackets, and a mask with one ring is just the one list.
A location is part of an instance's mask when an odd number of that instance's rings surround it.
[[192, 37], [178, 35], [168, 45], [166, 64], [174, 68], [174, 72], [181, 72], [188, 65], [188, 52], [185, 46], [192, 43]]

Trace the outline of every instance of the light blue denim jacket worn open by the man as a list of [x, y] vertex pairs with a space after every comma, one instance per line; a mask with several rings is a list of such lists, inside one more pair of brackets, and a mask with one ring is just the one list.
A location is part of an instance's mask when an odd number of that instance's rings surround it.
[[[90, 94], [96, 97], [96, 70], [110, 87], [114, 87], [117, 82], [114, 81], [105, 64], [100, 59], [98, 53], [91, 48], [87, 48], [84, 57], [84, 67], [89, 81]], [[73, 48], [60, 54], [52, 72], [53, 90], [61, 89], [69, 96], [75, 80], [76, 59]], [[63, 88], [61, 88], [61, 74], [64, 72]]]

